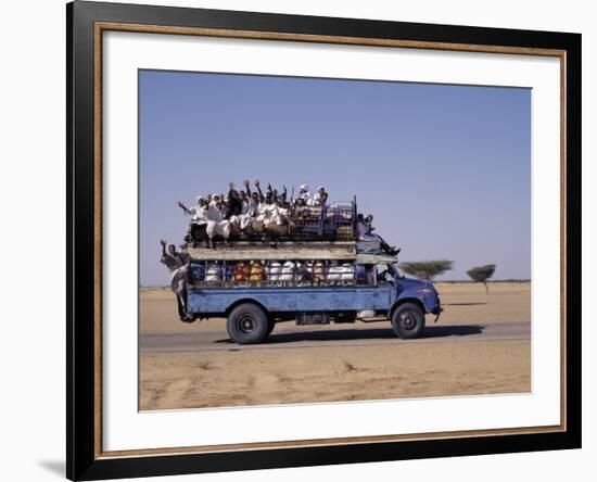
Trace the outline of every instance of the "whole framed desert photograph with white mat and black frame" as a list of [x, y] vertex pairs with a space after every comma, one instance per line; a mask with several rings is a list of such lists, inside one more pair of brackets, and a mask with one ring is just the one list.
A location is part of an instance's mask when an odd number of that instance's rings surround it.
[[581, 36], [75, 1], [67, 477], [581, 446]]

